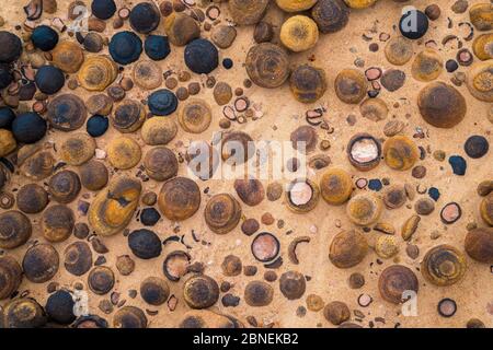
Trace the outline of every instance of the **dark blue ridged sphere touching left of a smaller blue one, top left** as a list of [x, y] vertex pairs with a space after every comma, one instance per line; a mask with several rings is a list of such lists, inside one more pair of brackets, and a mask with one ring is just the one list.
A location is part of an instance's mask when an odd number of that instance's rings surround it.
[[119, 32], [110, 42], [110, 55], [119, 65], [129, 65], [142, 54], [142, 40], [134, 32]]

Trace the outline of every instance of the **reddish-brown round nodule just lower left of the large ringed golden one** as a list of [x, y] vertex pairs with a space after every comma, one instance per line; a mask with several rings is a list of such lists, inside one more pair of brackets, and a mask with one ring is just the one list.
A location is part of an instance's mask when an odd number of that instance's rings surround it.
[[416, 275], [402, 265], [392, 265], [386, 268], [378, 279], [378, 290], [383, 300], [400, 304], [417, 293], [420, 283]]

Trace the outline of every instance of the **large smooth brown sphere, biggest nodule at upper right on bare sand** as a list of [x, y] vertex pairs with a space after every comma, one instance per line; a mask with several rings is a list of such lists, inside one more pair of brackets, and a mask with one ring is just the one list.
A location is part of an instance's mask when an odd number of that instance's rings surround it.
[[452, 128], [466, 116], [467, 104], [452, 85], [433, 82], [420, 91], [417, 105], [423, 119], [436, 128]]

